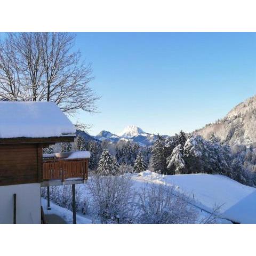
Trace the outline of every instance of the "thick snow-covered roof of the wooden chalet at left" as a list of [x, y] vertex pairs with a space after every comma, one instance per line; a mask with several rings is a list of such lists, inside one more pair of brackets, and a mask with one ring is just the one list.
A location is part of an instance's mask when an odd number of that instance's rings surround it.
[[75, 135], [75, 127], [54, 102], [0, 101], [0, 138]]

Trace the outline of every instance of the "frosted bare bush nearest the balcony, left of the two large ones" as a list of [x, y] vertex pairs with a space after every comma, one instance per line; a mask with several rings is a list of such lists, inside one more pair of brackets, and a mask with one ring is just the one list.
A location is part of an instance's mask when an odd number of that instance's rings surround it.
[[101, 223], [132, 223], [134, 193], [129, 175], [94, 175], [87, 183], [92, 199], [91, 209]]

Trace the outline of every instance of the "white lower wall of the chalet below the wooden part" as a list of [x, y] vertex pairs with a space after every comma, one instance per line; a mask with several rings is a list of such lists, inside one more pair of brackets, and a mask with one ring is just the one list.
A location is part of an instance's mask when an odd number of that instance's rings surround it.
[[0, 223], [13, 223], [13, 194], [17, 194], [16, 223], [41, 223], [39, 183], [0, 186]]

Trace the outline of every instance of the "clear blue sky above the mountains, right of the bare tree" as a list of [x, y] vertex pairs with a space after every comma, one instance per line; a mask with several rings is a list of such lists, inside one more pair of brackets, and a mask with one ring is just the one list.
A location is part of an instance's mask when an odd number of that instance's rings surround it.
[[150, 133], [191, 132], [256, 92], [255, 33], [77, 33], [93, 64], [101, 130], [135, 124]]

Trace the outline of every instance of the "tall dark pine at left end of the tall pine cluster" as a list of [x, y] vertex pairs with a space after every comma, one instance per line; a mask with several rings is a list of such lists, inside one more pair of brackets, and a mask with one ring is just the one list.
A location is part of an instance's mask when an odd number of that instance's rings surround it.
[[164, 151], [164, 139], [159, 134], [152, 147], [152, 155], [150, 158], [150, 169], [154, 172], [165, 174], [167, 172], [166, 168], [166, 158]]

